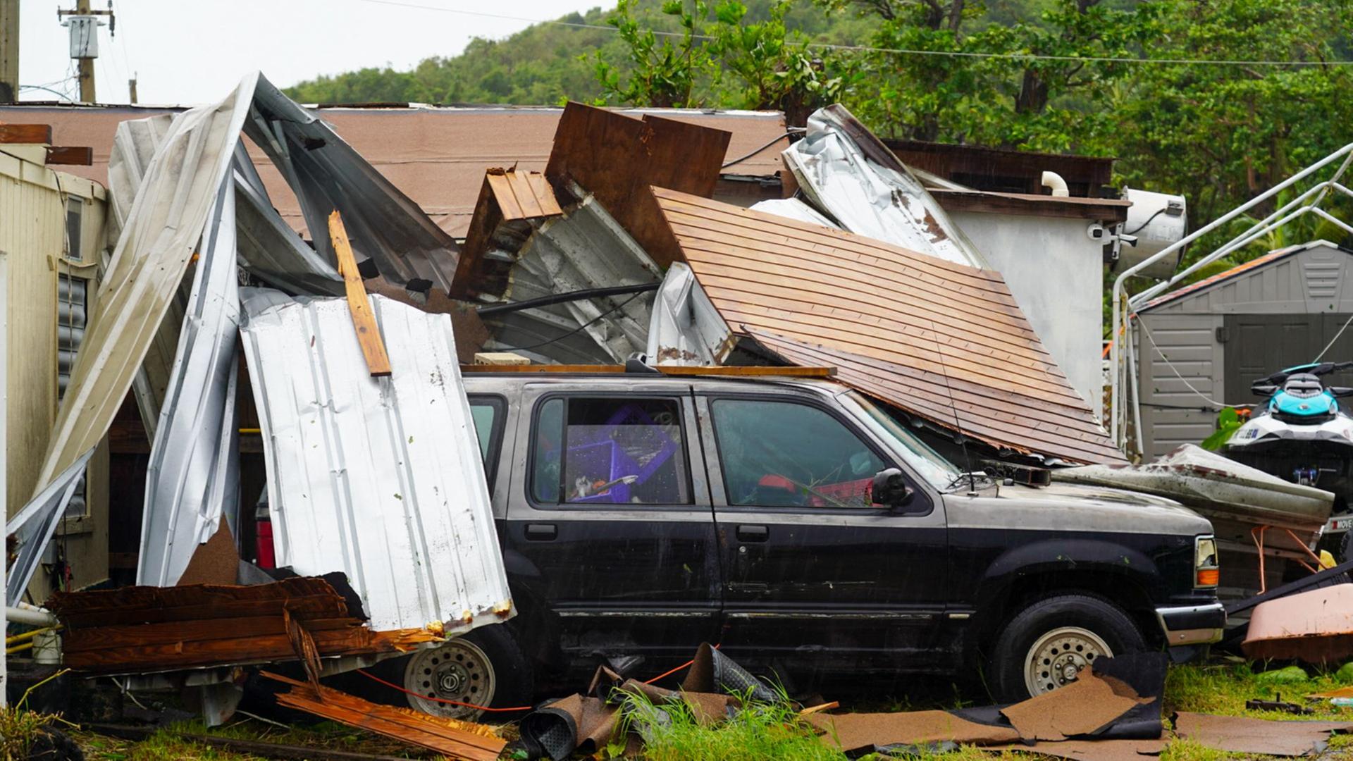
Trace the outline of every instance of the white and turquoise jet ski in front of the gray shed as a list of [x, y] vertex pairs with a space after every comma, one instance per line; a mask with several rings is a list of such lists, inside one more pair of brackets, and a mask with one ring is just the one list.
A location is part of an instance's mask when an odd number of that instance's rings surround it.
[[[1353, 368], [1353, 362], [1299, 364], [1261, 378], [1250, 391], [1265, 397], [1249, 421], [1227, 439], [1223, 454], [1284, 481], [1334, 493], [1334, 517], [1322, 547], [1348, 552], [1344, 536], [1353, 525], [1353, 417], [1338, 399], [1353, 389], [1326, 386], [1321, 378]], [[1333, 544], [1333, 546], [1331, 546]]]

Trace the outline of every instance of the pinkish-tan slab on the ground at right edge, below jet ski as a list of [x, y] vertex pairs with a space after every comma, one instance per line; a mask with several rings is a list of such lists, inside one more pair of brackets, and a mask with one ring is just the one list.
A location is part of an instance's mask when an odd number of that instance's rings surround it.
[[1353, 655], [1353, 584], [1260, 603], [1242, 645], [1250, 658], [1341, 664]]

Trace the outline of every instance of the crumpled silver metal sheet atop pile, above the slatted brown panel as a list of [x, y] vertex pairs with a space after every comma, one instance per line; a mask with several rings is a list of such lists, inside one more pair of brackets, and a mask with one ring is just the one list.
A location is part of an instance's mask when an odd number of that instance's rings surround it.
[[989, 267], [905, 164], [842, 104], [808, 118], [785, 150], [798, 187], [842, 227], [955, 264]]

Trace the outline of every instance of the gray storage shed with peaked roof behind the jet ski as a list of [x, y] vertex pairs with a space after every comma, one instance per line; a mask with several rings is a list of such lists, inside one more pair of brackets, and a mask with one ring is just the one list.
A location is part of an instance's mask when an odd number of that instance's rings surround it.
[[[1312, 362], [1353, 314], [1353, 252], [1329, 241], [1279, 249], [1137, 311], [1143, 460], [1216, 429], [1216, 402], [1260, 401], [1250, 383]], [[1325, 353], [1353, 359], [1353, 326]], [[1353, 385], [1353, 375], [1329, 376]]]

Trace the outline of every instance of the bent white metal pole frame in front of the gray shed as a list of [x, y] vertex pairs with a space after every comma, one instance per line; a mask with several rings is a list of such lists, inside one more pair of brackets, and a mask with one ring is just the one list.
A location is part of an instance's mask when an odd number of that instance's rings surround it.
[[[1339, 164], [1338, 169], [1334, 172], [1334, 175], [1330, 179], [1327, 179], [1327, 180], [1325, 180], [1325, 181], [1322, 181], [1322, 183], [1311, 187], [1310, 190], [1304, 191], [1302, 195], [1299, 195], [1295, 199], [1289, 200], [1288, 203], [1283, 204], [1281, 209], [1273, 211], [1272, 214], [1269, 214], [1264, 219], [1260, 219], [1258, 222], [1256, 222], [1254, 225], [1252, 225], [1247, 230], [1245, 230], [1239, 236], [1235, 236], [1234, 238], [1231, 238], [1230, 241], [1227, 241], [1224, 245], [1218, 246], [1215, 251], [1212, 251], [1211, 253], [1208, 253], [1203, 259], [1199, 259], [1197, 261], [1195, 261], [1193, 264], [1191, 264], [1183, 272], [1176, 272], [1169, 280], [1166, 280], [1164, 283], [1157, 283], [1155, 286], [1151, 286], [1150, 288], [1142, 291], [1141, 294], [1137, 294], [1137, 295], [1131, 297], [1124, 303], [1124, 299], [1123, 299], [1123, 284], [1127, 282], [1128, 278], [1137, 275], [1138, 272], [1146, 269], [1147, 267], [1150, 267], [1151, 264], [1155, 264], [1157, 261], [1165, 259], [1166, 256], [1170, 256], [1170, 255], [1181, 251], [1184, 246], [1187, 246], [1188, 244], [1193, 242], [1195, 240], [1197, 240], [1197, 238], [1200, 238], [1200, 237], [1211, 233], [1212, 230], [1216, 230], [1222, 225], [1226, 225], [1227, 222], [1230, 222], [1230, 221], [1233, 221], [1233, 219], [1243, 215], [1246, 211], [1249, 211], [1254, 206], [1258, 206], [1260, 203], [1262, 203], [1262, 202], [1273, 198], [1275, 195], [1277, 195], [1277, 194], [1280, 194], [1280, 192], [1291, 188], [1292, 186], [1300, 183], [1302, 180], [1310, 177], [1312, 173], [1321, 171], [1322, 168], [1333, 164], [1334, 161], [1337, 161], [1339, 158], [1344, 158], [1344, 162]], [[1132, 310], [1135, 310], [1137, 307], [1142, 306], [1143, 303], [1146, 303], [1153, 297], [1155, 297], [1155, 295], [1158, 295], [1158, 294], [1169, 290], [1170, 287], [1173, 287], [1176, 283], [1178, 283], [1184, 278], [1188, 278], [1189, 275], [1192, 275], [1193, 272], [1196, 272], [1199, 268], [1206, 267], [1207, 264], [1211, 264], [1212, 261], [1216, 261], [1218, 259], [1226, 256], [1227, 253], [1231, 253], [1233, 251], [1235, 251], [1238, 248], [1249, 245], [1250, 242], [1253, 242], [1258, 237], [1261, 237], [1264, 234], [1268, 234], [1272, 230], [1276, 230], [1277, 227], [1281, 227], [1283, 225], [1287, 225], [1292, 219], [1296, 219], [1298, 217], [1302, 217], [1302, 215], [1304, 215], [1307, 213], [1314, 213], [1318, 217], [1322, 217], [1322, 218], [1325, 218], [1325, 219], [1327, 219], [1330, 222], [1334, 222], [1339, 227], [1342, 227], [1342, 229], [1349, 230], [1350, 233], [1353, 233], [1353, 227], [1350, 227], [1349, 225], [1346, 225], [1346, 223], [1335, 219], [1333, 215], [1330, 215], [1327, 211], [1325, 211], [1323, 209], [1319, 207], [1319, 204], [1325, 200], [1326, 195], [1329, 195], [1330, 190], [1334, 190], [1335, 192], [1341, 192], [1344, 195], [1348, 195], [1348, 196], [1353, 198], [1353, 192], [1350, 192], [1348, 187], [1345, 187], [1344, 184], [1341, 184], [1338, 181], [1339, 179], [1342, 179], [1344, 173], [1348, 171], [1350, 162], [1353, 162], [1353, 142], [1345, 145], [1344, 148], [1339, 148], [1334, 153], [1330, 153], [1325, 158], [1321, 158], [1315, 164], [1311, 164], [1310, 167], [1302, 169], [1300, 172], [1292, 175], [1291, 177], [1288, 177], [1288, 179], [1283, 180], [1281, 183], [1273, 186], [1272, 188], [1264, 191], [1262, 194], [1256, 195], [1250, 200], [1245, 202], [1241, 206], [1237, 206], [1235, 209], [1227, 211], [1222, 217], [1218, 217], [1212, 222], [1210, 222], [1210, 223], [1204, 225], [1203, 227], [1199, 227], [1197, 230], [1189, 233], [1184, 238], [1181, 238], [1181, 240], [1178, 240], [1178, 241], [1176, 241], [1176, 242], [1165, 246], [1164, 249], [1161, 249], [1155, 255], [1153, 255], [1153, 256], [1150, 256], [1147, 259], [1143, 259], [1142, 261], [1134, 264], [1132, 267], [1128, 267], [1127, 269], [1124, 269], [1114, 280], [1114, 291], [1112, 291], [1114, 322], [1112, 322], [1112, 328], [1111, 328], [1111, 333], [1109, 333], [1109, 367], [1112, 368], [1112, 375], [1109, 378], [1109, 404], [1112, 405], [1112, 410], [1111, 410], [1111, 414], [1109, 414], [1109, 435], [1112, 436], [1115, 444], [1119, 444], [1119, 445], [1123, 444], [1123, 433], [1124, 433], [1124, 429], [1127, 428], [1127, 425], [1126, 425], [1127, 410], [1124, 409], [1124, 405], [1123, 405], [1123, 386], [1124, 386], [1126, 378], [1123, 378], [1123, 375], [1124, 375], [1124, 362], [1123, 362], [1124, 360], [1124, 353], [1123, 353], [1122, 345], [1123, 345], [1123, 341], [1128, 340], [1128, 337], [1127, 337], [1127, 328], [1130, 328], [1130, 325], [1131, 325], [1131, 318], [1134, 316]], [[1315, 196], [1314, 200], [1311, 200], [1310, 203], [1304, 203], [1307, 199], [1311, 199], [1311, 196]], [[1298, 209], [1293, 210], [1293, 207], [1298, 207]], [[1137, 394], [1134, 394], [1132, 397], [1134, 397], [1132, 398], [1134, 416], [1138, 416], [1138, 414], [1141, 414], [1139, 409], [1138, 409], [1139, 398], [1137, 397]], [[1119, 420], [1123, 420], [1122, 425], [1119, 424]], [[1138, 440], [1139, 440], [1139, 436], [1141, 435], [1138, 433]]]

